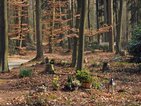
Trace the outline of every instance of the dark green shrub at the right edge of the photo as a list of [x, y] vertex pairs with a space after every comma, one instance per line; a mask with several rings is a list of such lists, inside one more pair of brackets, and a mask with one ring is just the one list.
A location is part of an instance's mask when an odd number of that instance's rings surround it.
[[132, 38], [128, 44], [128, 52], [135, 58], [141, 57], [141, 25], [134, 28]]

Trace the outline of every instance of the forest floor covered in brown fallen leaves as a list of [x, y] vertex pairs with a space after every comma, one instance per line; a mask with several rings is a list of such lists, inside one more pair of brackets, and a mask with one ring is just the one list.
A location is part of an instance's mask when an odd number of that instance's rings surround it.
[[[34, 52], [29, 52], [26, 56], [13, 56], [10, 59], [28, 60], [34, 56]], [[71, 53], [46, 53], [45, 56], [55, 61], [71, 62]], [[86, 52], [85, 59], [86, 69], [97, 78], [97, 84], [101, 87], [64, 91], [62, 88], [66, 79], [68, 75], [74, 75], [75, 69], [66, 65], [55, 65], [55, 76], [59, 77], [60, 88], [54, 91], [52, 89], [54, 75], [43, 73], [44, 64], [31, 62], [11, 69], [9, 73], [0, 73], [0, 106], [25, 106], [27, 95], [37, 86], [42, 85], [46, 85], [47, 91], [40, 96], [42, 99], [46, 95], [47, 106], [141, 106], [140, 64], [129, 63], [126, 61], [127, 57], [107, 52]], [[102, 65], [94, 66], [103, 61], [109, 61], [108, 72], [101, 71]], [[32, 76], [20, 78], [20, 69], [27, 67], [33, 70]], [[111, 77], [116, 83], [114, 93], [108, 92], [106, 87]]]

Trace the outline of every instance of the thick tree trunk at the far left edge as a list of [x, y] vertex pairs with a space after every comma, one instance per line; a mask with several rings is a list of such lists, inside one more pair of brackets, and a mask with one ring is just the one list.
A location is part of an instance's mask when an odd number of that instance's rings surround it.
[[8, 71], [7, 0], [0, 0], [0, 72]]

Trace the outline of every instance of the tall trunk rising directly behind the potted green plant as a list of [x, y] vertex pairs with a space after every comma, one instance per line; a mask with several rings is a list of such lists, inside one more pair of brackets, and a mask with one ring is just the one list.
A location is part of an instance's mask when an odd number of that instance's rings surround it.
[[84, 62], [84, 41], [85, 41], [84, 30], [85, 30], [85, 21], [86, 21], [86, 14], [87, 14], [86, 3], [87, 3], [87, 0], [81, 1], [77, 70], [83, 69], [83, 62]]

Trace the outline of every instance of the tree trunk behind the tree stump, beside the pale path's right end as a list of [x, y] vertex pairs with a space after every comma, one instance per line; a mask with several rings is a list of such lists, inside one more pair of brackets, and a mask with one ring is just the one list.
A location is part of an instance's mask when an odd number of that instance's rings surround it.
[[36, 59], [43, 58], [42, 33], [41, 33], [41, 1], [36, 0]]

